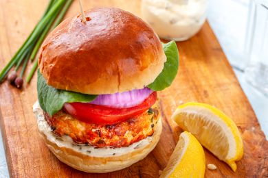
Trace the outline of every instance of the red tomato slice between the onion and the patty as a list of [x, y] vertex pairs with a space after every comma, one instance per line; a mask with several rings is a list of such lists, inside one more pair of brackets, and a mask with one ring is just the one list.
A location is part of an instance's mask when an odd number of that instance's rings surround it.
[[65, 103], [63, 110], [85, 123], [113, 125], [133, 116], [137, 116], [138, 114], [142, 114], [148, 110], [156, 100], [157, 92], [153, 92], [144, 102], [133, 107], [111, 108], [90, 103]]

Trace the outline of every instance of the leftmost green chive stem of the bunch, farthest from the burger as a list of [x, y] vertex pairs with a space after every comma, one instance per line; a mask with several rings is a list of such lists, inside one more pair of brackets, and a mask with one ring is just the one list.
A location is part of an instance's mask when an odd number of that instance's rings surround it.
[[[58, 8], [61, 8], [63, 6], [64, 2], [65, 2], [65, 0], [56, 1], [55, 5], [53, 5], [53, 7], [47, 12], [47, 14], [45, 14], [45, 16], [38, 23], [38, 25], [36, 25], [36, 27], [32, 31], [32, 34], [27, 38], [27, 40], [25, 40], [25, 42], [23, 43], [23, 45], [21, 46], [19, 51], [16, 52], [14, 57], [10, 60], [10, 62], [8, 62], [8, 64], [1, 71], [1, 73], [0, 73], [0, 82], [3, 80], [3, 78], [8, 73], [8, 71], [10, 71], [12, 66], [14, 66], [14, 64], [16, 62], [19, 62], [18, 55], [20, 57], [25, 55], [23, 52], [25, 52], [25, 50], [27, 49], [27, 47], [31, 43], [33, 43], [34, 41], [36, 41], [38, 39], [38, 36], [40, 36], [40, 34], [43, 31], [43, 28], [45, 27], [46, 23], [49, 22], [49, 19], [52, 18], [53, 14], [58, 10]], [[19, 65], [17, 65], [17, 66], [19, 66]]]

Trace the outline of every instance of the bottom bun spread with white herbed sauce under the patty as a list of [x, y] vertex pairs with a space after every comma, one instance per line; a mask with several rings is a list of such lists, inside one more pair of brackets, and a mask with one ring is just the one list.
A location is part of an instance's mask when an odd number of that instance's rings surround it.
[[41, 136], [58, 160], [87, 173], [108, 173], [121, 170], [144, 159], [157, 145], [162, 131], [161, 118], [159, 118], [153, 136], [148, 136], [129, 147], [96, 149], [89, 145], [76, 144], [69, 136], [56, 136], [47, 124], [38, 102], [34, 104], [34, 114]]

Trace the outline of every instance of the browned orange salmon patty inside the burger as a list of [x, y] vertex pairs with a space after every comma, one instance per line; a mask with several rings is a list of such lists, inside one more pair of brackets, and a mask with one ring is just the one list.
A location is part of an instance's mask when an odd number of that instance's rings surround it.
[[157, 103], [149, 110], [129, 118], [115, 125], [97, 125], [84, 123], [73, 116], [59, 111], [50, 117], [47, 113], [45, 119], [57, 136], [70, 136], [78, 144], [89, 144], [93, 147], [128, 147], [152, 136], [155, 125], [159, 119]]

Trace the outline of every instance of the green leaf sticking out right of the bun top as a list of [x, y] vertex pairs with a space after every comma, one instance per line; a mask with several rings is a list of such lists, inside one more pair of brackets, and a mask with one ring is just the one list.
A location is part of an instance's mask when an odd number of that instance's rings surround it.
[[163, 71], [161, 71], [152, 84], [148, 85], [148, 88], [154, 91], [164, 90], [170, 86], [177, 75], [179, 67], [179, 51], [176, 42], [170, 41], [162, 45], [166, 55]]

